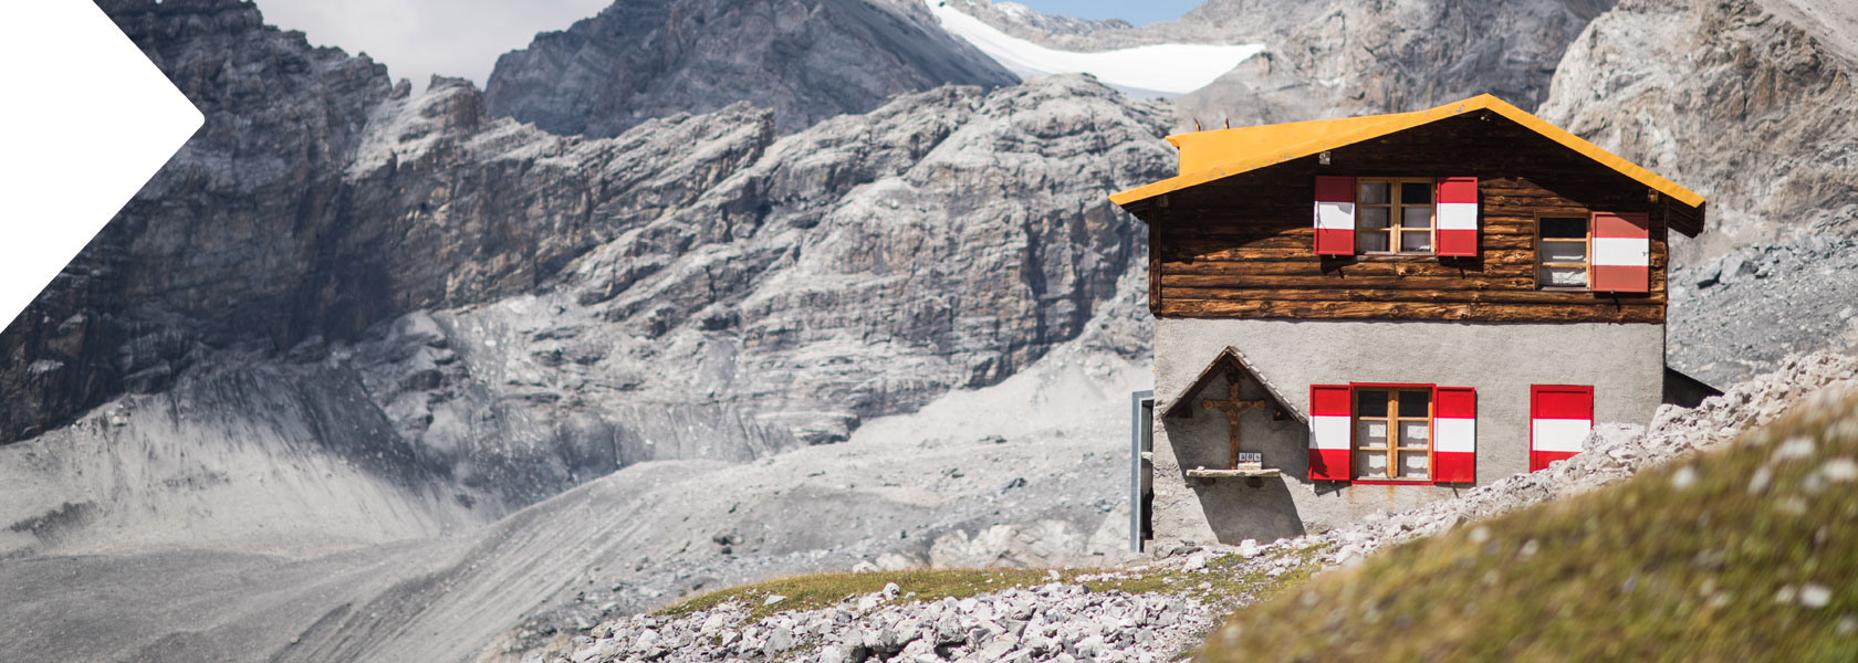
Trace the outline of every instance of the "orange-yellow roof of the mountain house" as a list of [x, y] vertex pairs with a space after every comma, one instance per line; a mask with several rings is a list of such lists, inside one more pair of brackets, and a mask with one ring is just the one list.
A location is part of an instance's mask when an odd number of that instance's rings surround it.
[[1410, 111], [1410, 113], [1319, 119], [1308, 123], [1174, 134], [1169, 136], [1167, 141], [1174, 143], [1174, 147], [1180, 149], [1180, 175], [1161, 182], [1152, 182], [1128, 191], [1113, 193], [1109, 197], [1109, 202], [1130, 204], [1135, 201], [1152, 199], [1161, 193], [1180, 191], [1224, 176], [1256, 171], [1265, 165], [1284, 163], [1315, 152], [1360, 143], [1394, 132], [1403, 132], [1420, 124], [1479, 110], [1488, 110], [1498, 115], [1503, 115], [1512, 123], [1522, 124], [1531, 132], [1542, 134], [1548, 139], [1561, 143], [1576, 152], [1581, 152], [1587, 158], [1600, 162], [1602, 165], [1615, 169], [1620, 175], [1639, 180], [1644, 186], [1657, 189], [1659, 193], [1665, 193], [1678, 202], [1689, 204], [1693, 208], [1704, 206], [1702, 195], [1696, 195], [1691, 189], [1685, 189], [1663, 176], [1657, 176], [1657, 173], [1646, 171], [1637, 163], [1620, 158], [1618, 154], [1607, 152], [1598, 145], [1581, 139], [1579, 136], [1568, 134], [1559, 126], [1544, 123], [1540, 117], [1529, 115], [1522, 108], [1511, 106], [1509, 102], [1490, 95], [1477, 95], [1460, 102], [1451, 102], [1433, 110]]

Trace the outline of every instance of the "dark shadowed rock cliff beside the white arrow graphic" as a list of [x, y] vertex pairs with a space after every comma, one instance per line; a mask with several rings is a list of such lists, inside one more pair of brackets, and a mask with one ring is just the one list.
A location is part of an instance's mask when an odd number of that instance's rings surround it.
[[368, 106], [394, 95], [385, 67], [260, 30], [249, 4], [100, 7], [206, 126], [0, 334], [0, 444], [123, 390], [165, 388], [203, 342], [288, 347], [366, 318], [364, 301], [336, 295], [349, 292], [336, 273], [312, 266], [333, 249], [329, 228], [351, 223], [342, 162]]

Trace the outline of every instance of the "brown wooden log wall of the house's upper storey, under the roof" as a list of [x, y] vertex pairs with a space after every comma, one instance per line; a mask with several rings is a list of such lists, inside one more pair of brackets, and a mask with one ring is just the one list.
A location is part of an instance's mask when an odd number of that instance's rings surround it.
[[[1479, 178], [1479, 254], [1321, 258], [1317, 175]], [[1657, 195], [1501, 115], [1472, 113], [1152, 199], [1150, 308], [1163, 318], [1665, 321], [1667, 215]], [[1641, 295], [1537, 288], [1537, 214], [1644, 212]]]

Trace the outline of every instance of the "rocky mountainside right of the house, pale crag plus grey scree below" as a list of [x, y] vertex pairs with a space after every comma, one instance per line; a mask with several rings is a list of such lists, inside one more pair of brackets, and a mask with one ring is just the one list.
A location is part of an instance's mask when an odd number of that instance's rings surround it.
[[1628, 0], [1568, 48], [1544, 119], [1709, 199], [1672, 253], [1672, 366], [1726, 384], [1858, 344], [1854, 39], [1841, 2]]

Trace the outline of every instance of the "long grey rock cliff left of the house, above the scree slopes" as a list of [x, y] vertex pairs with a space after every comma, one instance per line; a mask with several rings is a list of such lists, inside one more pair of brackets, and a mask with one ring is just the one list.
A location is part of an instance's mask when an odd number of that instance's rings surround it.
[[190, 373], [281, 371], [299, 388], [204, 409], [269, 425], [359, 384], [412, 459], [390, 479], [496, 516], [630, 462], [844, 440], [1085, 334], [1146, 347], [1143, 236], [1104, 193], [1171, 171], [1165, 110], [1089, 80], [938, 87], [786, 137], [734, 104], [583, 139], [492, 119], [463, 82], [392, 89], [251, 6], [110, 11], [208, 124], [0, 338], [7, 440]]

